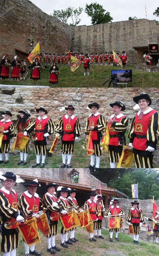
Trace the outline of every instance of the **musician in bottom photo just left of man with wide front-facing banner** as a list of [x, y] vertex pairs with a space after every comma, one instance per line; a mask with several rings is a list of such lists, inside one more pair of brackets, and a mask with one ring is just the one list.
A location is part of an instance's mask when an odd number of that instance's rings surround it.
[[[104, 236], [102, 236], [102, 234], [101, 234], [102, 217], [103, 217], [103, 213], [105, 212], [105, 208], [101, 203], [103, 197], [101, 195], [96, 195], [95, 199], [96, 199], [96, 203], [98, 206], [99, 214], [98, 214], [98, 220], [97, 220], [97, 229], [94, 230], [94, 234], [95, 234], [94, 237], [104, 239]], [[98, 230], [98, 235], [97, 235], [97, 230]]]

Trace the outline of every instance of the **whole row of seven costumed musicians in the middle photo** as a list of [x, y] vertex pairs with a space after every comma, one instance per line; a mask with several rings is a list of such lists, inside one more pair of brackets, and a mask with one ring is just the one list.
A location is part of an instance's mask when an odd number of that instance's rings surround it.
[[[153, 168], [153, 155], [158, 142], [159, 113], [150, 107], [152, 101], [147, 93], [140, 93], [133, 98], [133, 101], [139, 105], [140, 110], [134, 116], [130, 125], [128, 133], [129, 148], [132, 149], [136, 168]], [[110, 103], [110, 106], [113, 108], [113, 114], [107, 118], [105, 123], [104, 116], [98, 112], [99, 104], [93, 102], [88, 105], [91, 114], [86, 120], [84, 131], [86, 138], [83, 146], [87, 148], [87, 153], [90, 155], [90, 165], [87, 168], [99, 168], [102, 155], [101, 145], [108, 149], [108, 160], [111, 168], [116, 168], [122, 155], [123, 146], [126, 142], [125, 132], [128, 128], [128, 117], [121, 112], [125, 111], [126, 107], [118, 100]], [[18, 111], [20, 118], [15, 128], [14, 123], [10, 120], [12, 113], [8, 110], [3, 112], [4, 118], [0, 120], [0, 164], [3, 163], [3, 153], [5, 153], [4, 163], [9, 162], [9, 146], [12, 135], [16, 135], [15, 141], [19, 145], [21, 140], [29, 140], [28, 136], [32, 136], [34, 131], [36, 163], [32, 165], [32, 168], [36, 166], [45, 167], [47, 140], [53, 133], [56, 134], [54, 140], [56, 143], [61, 136], [62, 165], [60, 168], [66, 166], [72, 168], [70, 163], [74, 152], [74, 142], [79, 138], [81, 130], [79, 119], [74, 115], [75, 108], [70, 104], [64, 109], [67, 113], [59, 118], [56, 125], [50, 117], [47, 117], [48, 111], [43, 106], [36, 109], [39, 116], [32, 121], [30, 120], [29, 111], [20, 110]], [[20, 137], [23, 137], [23, 139], [20, 139]], [[20, 150], [18, 165], [26, 165], [29, 152], [28, 140], [25, 148]], [[54, 142], [51, 147], [53, 149], [56, 145], [54, 145]], [[15, 148], [19, 149], [18, 146]], [[40, 155], [42, 156], [41, 163]]]

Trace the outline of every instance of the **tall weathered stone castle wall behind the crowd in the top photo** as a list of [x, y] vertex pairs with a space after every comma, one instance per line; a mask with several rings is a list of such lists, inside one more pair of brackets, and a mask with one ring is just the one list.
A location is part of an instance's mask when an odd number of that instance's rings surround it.
[[149, 43], [159, 42], [159, 24], [155, 20], [72, 27], [42, 12], [28, 0], [1, 0], [0, 18], [1, 55], [8, 53], [10, 59], [17, 53], [15, 49], [29, 53], [28, 39], [33, 39], [35, 43], [40, 41], [42, 53], [61, 54], [71, 48], [84, 53], [125, 50], [132, 64], [137, 62], [137, 52], [132, 47], [147, 46], [148, 39]]

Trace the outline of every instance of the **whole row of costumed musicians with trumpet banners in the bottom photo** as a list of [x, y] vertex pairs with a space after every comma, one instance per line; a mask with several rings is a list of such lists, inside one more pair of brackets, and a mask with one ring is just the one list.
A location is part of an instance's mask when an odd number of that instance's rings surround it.
[[[0, 233], [2, 235], [1, 251], [4, 256], [16, 256], [16, 249], [19, 245], [19, 231], [23, 237], [25, 255], [41, 255], [41, 252], [35, 249], [36, 240], [38, 240], [37, 244], [40, 243], [37, 227], [42, 232], [45, 232], [47, 252], [55, 254], [56, 251], [60, 251], [61, 249], [56, 245], [55, 241], [59, 217], [61, 222], [60, 245], [65, 249], [69, 245], [78, 242], [75, 237], [77, 226], [86, 227], [90, 242], [96, 241], [97, 238], [104, 239], [101, 234], [103, 214], [109, 220], [110, 242], [113, 242], [113, 232], [115, 232], [115, 240], [119, 241], [118, 232], [122, 227], [125, 212], [118, 206], [118, 199], [112, 199], [111, 204], [105, 209], [102, 195], [96, 195], [96, 193], [91, 192], [88, 194], [89, 199], [83, 206], [79, 207], [75, 198], [76, 189], [59, 186], [57, 188], [57, 198], [55, 196], [57, 184], [48, 183], [44, 187], [43, 198], [40, 198], [37, 193], [37, 188], [39, 189], [40, 184], [37, 180], [30, 180], [27, 184], [24, 184], [27, 190], [20, 195], [18, 202], [17, 192], [13, 189], [17, 180], [16, 175], [12, 172], [6, 172], [2, 174], [2, 178], [3, 187], [0, 189]], [[134, 200], [131, 204], [132, 208], [129, 210], [126, 220], [130, 226], [130, 233], [133, 235], [133, 243], [138, 244], [144, 215], [142, 209], [139, 208], [137, 200]], [[69, 221], [70, 217], [73, 218], [73, 222]], [[159, 213], [156, 212], [155, 217], [148, 218], [148, 220], [154, 222], [153, 231], [156, 243], [158, 243]], [[42, 221], [45, 221], [44, 228]], [[34, 226], [33, 223], [35, 223]], [[26, 230], [30, 230], [30, 232], [26, 232]], [[68, 232], [70, 238], [68, 238]], [[36, 238], [34, 239], [35, 236]]]

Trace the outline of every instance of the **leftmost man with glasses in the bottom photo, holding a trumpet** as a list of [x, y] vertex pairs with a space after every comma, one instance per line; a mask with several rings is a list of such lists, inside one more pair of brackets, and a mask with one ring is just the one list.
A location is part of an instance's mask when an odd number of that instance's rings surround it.
[[5, 227], [5, 222], [23, 222], [24, 219], [18, 214], [18, 196], [13, 189], [16, 175], [13, 172], [2, 174], [4, 186], [0, 189], [0, 212], [1, 212], [1, 251], [4, 256], [16, 256], [16, 248], [19, 244], [19, 232], [15, 224], [10, 229]]

